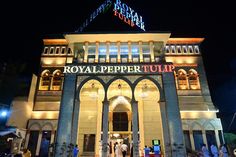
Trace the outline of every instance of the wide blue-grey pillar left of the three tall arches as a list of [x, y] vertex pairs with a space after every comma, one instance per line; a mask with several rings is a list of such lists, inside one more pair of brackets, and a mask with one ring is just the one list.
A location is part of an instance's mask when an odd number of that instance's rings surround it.
[[61, 146], [63, 143], [69, 145], [72, 142], [71, 133], [76, 91], [76, 78], [76, 74], [65, 74], [58, 119], [55, 157], [60, 156]]

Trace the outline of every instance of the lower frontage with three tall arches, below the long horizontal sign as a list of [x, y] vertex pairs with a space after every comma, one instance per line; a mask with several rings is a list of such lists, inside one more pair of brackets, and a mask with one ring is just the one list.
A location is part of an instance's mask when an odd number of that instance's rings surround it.
[[[160, 140], [166, 156], [184, 156], [186, 147], [199, 150], [210, 141], [223, 143], [219, 119], [207, 118], [204, 112], [181, 112], [173, 73], [66, 75], [60, 115], [42, 111], [44, 119], [29, 120], [26, 146], [36, 156], [55, 140], [56, 153], [65, 142], [78, 144], [81, 156], [105, 156], [107, 143], [115, 142], [133, 145], [136, 156], [154, 139]], [[58, 116], [59, 123], [52, 120]]]

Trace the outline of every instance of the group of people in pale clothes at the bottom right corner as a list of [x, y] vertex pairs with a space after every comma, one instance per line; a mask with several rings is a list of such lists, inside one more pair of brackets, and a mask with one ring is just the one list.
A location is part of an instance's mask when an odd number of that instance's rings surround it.
[[202, 145], [201, 153], [202, 157], [228, 157], [228, 151], [225, 145], [221, 145], [219, 149], [216, 145], [211, 144], [210, 150], [207, 149], [206, 144]]

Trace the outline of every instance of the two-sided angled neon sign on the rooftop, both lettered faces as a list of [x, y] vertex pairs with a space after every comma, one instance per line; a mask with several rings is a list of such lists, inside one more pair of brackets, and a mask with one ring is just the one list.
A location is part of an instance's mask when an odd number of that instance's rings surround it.
[[[92, 14], [87, 18], [75, 32], [82, 32], [99, 14], [105, 13], [112, 6], [112, 0], [105, 0]], [[127, 23], [131, 27], [137, 26], [145, 31], [143, 17], [121, 0], [115, 0], [113, 8], [114, 16]]]

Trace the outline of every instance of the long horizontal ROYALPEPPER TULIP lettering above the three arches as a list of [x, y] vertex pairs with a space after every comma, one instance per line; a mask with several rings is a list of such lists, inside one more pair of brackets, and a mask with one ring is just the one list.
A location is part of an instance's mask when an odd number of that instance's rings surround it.
[[63, 73], [69, 74], [158, 74], [173, 72], [172, 64], [153, 65], [68, 65]]

